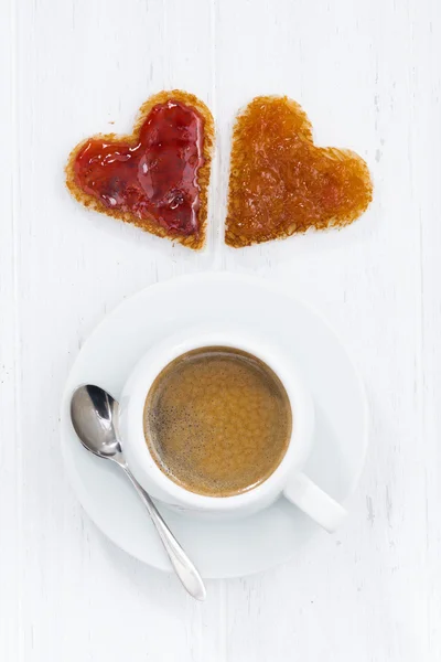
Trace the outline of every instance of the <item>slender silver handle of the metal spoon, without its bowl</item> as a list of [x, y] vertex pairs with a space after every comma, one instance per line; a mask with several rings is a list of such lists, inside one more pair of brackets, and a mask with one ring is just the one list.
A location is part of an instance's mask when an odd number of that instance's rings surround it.
[[193, 596], [193, 598], [196, 598], [196, 600], [205, 600], [206, 590], [197, 569], [194, 567], [194, 565], [185, 554], [184, 549], [181, 547], [181, 545], [165, 524], [162, 515], [158, 511], [149, 494], [143, 488], [141, 488], [135, 476], [131, 473], [130, 469], [127, 466], [123, 466], [122, 468], [129, 477], [130, 481], [132, 482], [141, 500], [143, 501], [149, 512], [149, 515], [152, 519], [152, 522], [159, 533], [165, 552], [169, 555], [171, 564], [178, 577], [180, 578], [183, 587], [189, 591], [191, 596]]

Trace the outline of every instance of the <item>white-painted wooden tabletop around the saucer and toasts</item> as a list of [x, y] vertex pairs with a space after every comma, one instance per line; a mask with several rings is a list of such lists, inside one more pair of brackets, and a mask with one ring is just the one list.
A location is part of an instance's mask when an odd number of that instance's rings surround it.
[[[0, 13], [0, 660], [438, 662], [438, 0], [2, 0]], [[217, 122], [204, 255], [87, 214], [63, 185], [79, 139], [129, 130], [173, 87]], [[303, 105], [318, 142], [366, 158], [375, 202], [341, 233], [234, 252], [220, 235], [232, 120], [271, 93]], [[82, 511], [58, 405], [108, 310], [203, 269], [289, 280], [323, 311], [363, 374], [372, 429], [341, 533], [301, 565], [208, 583], [197, 605]]]

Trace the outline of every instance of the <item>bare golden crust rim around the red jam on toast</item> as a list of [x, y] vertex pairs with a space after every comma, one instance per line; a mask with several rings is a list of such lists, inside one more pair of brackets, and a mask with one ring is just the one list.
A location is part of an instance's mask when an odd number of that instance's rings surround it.
[[[151, 109], [158, 104], [164, 104], [169, 100], [180, 102], [185, 104], [186, 106], [191, 106], [195, 108], [204, 118], [204, 139], [203, 139], [203, 154], [204, 154], [204, 164], [197, 171], [197, 183], [200, 186], [200, 209], [197, 212], [198, 217], [198, 234], [191, 236], [179, 236], [173, 233], [169, 233], [164, 227], [158, 225], [153, 220], [143, 218], [142, 222], [131, 214], [130, 212], [119, 212], [118, 210], [111, 210], [107, 207], [100, 200], [85, 193], [80, 186], [78, 186], [75, 178], [75, 159], [82, 148], [89, 140], [98, 139], [98, 140], [109, 140], [109, 141], [121, 141], [127, 142], [129, 145], [137, 145], [139, 134], [141, 127], [148, 117]], [[94, 210], [95, 212], [99, 212], [101, 214], [106, 214], [107, 216], [114, 216], [115, 218], [119, 218], [120, 221], [125, 221], [126, 223], [131, 223], [132, 225], [137, 225], [141, 229], [146, 232], [150, 232], [159, 237], [166, 237], [171, 241], [179, 242], [193, 250], [201, 249], [205, 244], [206, 236], [206, 225], [207, 225], [207, 212], [208, 212], [208, 185], [209, 185], [209, 173], [212, 167], [212, 154], [213, 154], [213, 146], [214, 146], [214, 120], [213, 116], [207, 108], [207, 106], [201, 102], [193, 94], [189, 94], [187, 92], [182, 92], [180, 89], [173, 89], [170, 92], [159, 92], [153, 96], [149, 97], [147, 102], [144, 102], [139, 109], [138, 117], [133, 125], [133, 131], [127, 136], [119, 136], [116, 134], [97, 134], [92, 138], [86, 138], [86, 140], [82, 140], [78, 142], [76, 147], [69, 153], [65, 173], [66, 173], [66, 186], [69, 190], [71, 194], [80, 202], [84, 206], [89, 210]]]

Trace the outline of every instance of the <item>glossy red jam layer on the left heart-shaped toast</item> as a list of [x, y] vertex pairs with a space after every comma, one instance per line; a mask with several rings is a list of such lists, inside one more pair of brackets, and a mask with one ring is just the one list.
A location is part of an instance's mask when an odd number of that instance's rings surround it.
[[133, 143], [92, 138], [78, 151], [77, 185], [107, 209], [152, 218], [168, 233], [197, 235], [204, 164], [204, 118], [194, 108], [168, 100], [155, 105]]

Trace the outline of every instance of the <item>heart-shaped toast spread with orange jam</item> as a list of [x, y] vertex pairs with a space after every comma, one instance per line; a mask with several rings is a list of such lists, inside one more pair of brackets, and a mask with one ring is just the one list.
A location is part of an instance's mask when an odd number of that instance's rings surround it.
[[315, 147], [306, 115], [288, 97], [256, 97], [233, 134], [226, 243], [239, 248], [352, 223], [372, 200], [365, 161]]

